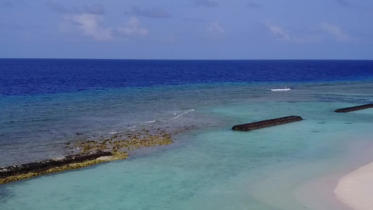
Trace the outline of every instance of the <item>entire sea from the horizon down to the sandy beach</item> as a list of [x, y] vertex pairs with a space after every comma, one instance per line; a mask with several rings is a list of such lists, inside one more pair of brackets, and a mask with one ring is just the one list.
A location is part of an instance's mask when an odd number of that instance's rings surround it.
[[[373, 109], [333, 111], [369, 103], [373, 60], [0, 59], [0, 167], [180, 131], [126, 160], [1, 185], [0, 209], [344, 209], [337, 179], [323, 181], [372, 162]], [[304, 120], [231, 130], [283, 116]]]

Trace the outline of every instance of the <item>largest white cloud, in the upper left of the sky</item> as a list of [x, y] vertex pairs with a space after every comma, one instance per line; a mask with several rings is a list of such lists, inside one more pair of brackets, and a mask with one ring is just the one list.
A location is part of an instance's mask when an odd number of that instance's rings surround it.
[[65, 20], [73, 23], [71, 27], [78, 29], [85, 36], [90, 36], [97, 41], [109, 41], [113, 39], [111, 28], [101, 27], [102, 15], [83, 13], [80, 15], [66, 15]]

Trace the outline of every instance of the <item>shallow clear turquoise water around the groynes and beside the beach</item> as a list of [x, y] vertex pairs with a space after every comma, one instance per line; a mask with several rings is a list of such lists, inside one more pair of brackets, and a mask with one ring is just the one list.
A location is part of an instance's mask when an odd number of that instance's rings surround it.
[[[290, 92], [270, 92], [265, 85], [180, 87], [169, 94], [195, 111], [177, 122], [195, 120], [197, 130], [146, 155], [0, 186], [0, 209], [311, 209], [293, 192], [347, 167], [347, 160], [359, 156], [351, 145], [373, 142], [372, 109], [333, 112], [372, 102], [373, 85], [294, 86]], [[154, 103], [143, 109], [162, 107]], [[163, 110], [181, 107], [170, 106]], [[289, 115], [304, 120], [230, 130]]]

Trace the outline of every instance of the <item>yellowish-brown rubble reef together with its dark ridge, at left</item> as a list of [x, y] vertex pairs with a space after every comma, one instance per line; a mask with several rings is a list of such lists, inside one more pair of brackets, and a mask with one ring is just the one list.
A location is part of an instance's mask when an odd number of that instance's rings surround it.
[[14, 165], [0, 168], [0, 184], [29, 179], [31, 177], [79, 169], [101, 162], [123, 160], [133, 151], [141, 147], [152, 147], [171, 144], [171, 134], [157, 129], [153, 132], [129, 132], [115, 134], [110, 138], [93, 140], [80, 140], [66, 143], [66, 149], [78, 151], [75, 155], [66, 155], [62, 158], [52, 158], [31, 162], [24, 165]]

